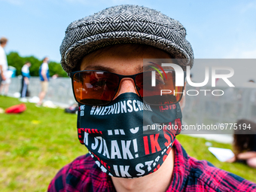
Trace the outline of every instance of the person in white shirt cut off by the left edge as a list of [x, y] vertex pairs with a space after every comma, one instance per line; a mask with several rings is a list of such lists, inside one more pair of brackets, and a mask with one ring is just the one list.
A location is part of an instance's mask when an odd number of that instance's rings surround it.
[[11, 79], [7, 77], [8, 72], [8, 62], [5, 54], [5, 46], [8, 42], [7, 38], [0, 39], [0, 94], [2, 90], [5, 89], [5, 94], [8, 93], [8, 83], [11, 83]]

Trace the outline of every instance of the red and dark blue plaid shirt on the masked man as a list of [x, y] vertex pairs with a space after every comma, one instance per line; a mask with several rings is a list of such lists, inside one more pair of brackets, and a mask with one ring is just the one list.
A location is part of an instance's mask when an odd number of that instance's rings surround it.
[[[256, 184], [218, 169], [206, 160], [189, 157], [175, 139], [175, 164], [167, 191], [256, 191]], [[50, 192], [116, 191], [111, 177], [98, 168], [89, 154], [64, 166], [48, 187]]]

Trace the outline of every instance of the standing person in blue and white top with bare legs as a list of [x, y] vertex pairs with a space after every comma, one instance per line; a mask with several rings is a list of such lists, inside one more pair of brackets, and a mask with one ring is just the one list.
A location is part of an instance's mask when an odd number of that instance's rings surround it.
[[48, 82], [50, 80], [50, 72], [49, 72], [49, 66], [48, 66], [49, 58], [46, 56], [43, 59], [43, 63], [41, 64], [39, 68], [39, 77], [41, 81], [41, 92], [39, 93], [39, 102], [36, 104], [36, 106], [41, 106], [44, 97], [46, 96], [47, 90], [48, 90]]

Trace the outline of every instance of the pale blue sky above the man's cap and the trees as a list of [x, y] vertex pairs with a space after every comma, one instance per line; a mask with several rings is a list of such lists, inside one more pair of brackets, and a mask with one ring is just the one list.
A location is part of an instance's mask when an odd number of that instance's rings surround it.
[[6, 52], [59, 62], [66, 27], [113, 5], [143, 5], [179, 20], [195, 58], [256, 58], [256, 1], [0, 0]]

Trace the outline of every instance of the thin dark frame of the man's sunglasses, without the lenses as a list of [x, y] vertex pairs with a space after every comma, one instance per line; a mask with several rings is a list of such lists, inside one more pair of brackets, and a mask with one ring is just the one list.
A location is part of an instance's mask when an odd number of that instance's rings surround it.
[[[174, 70], [169, 69], [168, 71], [174, 71]], [[68, 74], [69, 77], [72, 79], [72, 90], [73, 90], [73, 95], [74, 95], [74, 97], [75, 97], [75, 101], [76, 101], [76, 102], [78, 102], [78, 100], [76, 99], [76, 96], [75, 96], [73, 78], [74, 78], [75, 74], [80, 73], [80, 72], [105, 72], [105, 71], [101, 71], [101, 70], [83, 70], [83, 71], [71, 72], [71, 73]], [[152, 71], [147, 71], [147, 72], [152, 72]], [[178, 103], [178, 102], [181, 101], [182, 95], [181, 95], [181, 98], [178, 99], [177, 102], [173, 102], [173, 103], [171, 103], [171, 104], [151, 104], [151, 103], [146, 102], [146, 101], [143, 99], [143, 97], [140, 95], [140, 93], [139, 93], [139, 87], [136, 85], [136, 77], [137, 77], [137, 75], [144, 74], [144, 73], [147, 73], [147, 72], [141, 72], [141, 73], [137, 73], [137, 74], [135, 74], [135, 75], [119, 75], [119, 74], [117, 74], [117, 73], [107, 72], [107, 73], [110, 73], [110, 74], [113, 74], [113, 75], [117, 75], [117, 77], [119, 78], [118, 85], [117, 85], [117, 90], [115, 90], [114, 96], [116, 96], [117, 91], [119, 90], [120, 81], [121, 81], [123, 78], [132, 78], [132, 79], [133, 79], [133, 83], [135, 84], [135, 87], [136, 87], [136, 91], [137, 91], [137, 93], [139, 94], [139, 97], [143, 100], [143, 102], [147, 103], [148, 105], [157, 105], [157, 106], [172, 105], [172, 104], [176, 104], [176, 103]], [[184, 71], [184, 81], [185, 81], [185, 79], [186, 79], [186, 72]], [[182, 87], [182, 92], [183, 92], [183, 91], [184, 91], [184, 86]], [[109, 101], [108, 103], [102, 104], [102, 105], [96, 105], [96, 106], [105, 106], [105, 105], [108, 105], [109, 103], [111, 103], [111, 102], [113, 101], [114, 96], [113, 96], [113, 98], [111, 99], [111, 101]], [[80, 104], [82, 104], [82, 105], [88, 105], [88, 104], [84, 104], [84, 103], [81, 103], [81, 102], [78, 102], [78, 103], [80, 103]], [[93, 105], [92, 105], [92, 106], [93, 106]]]

